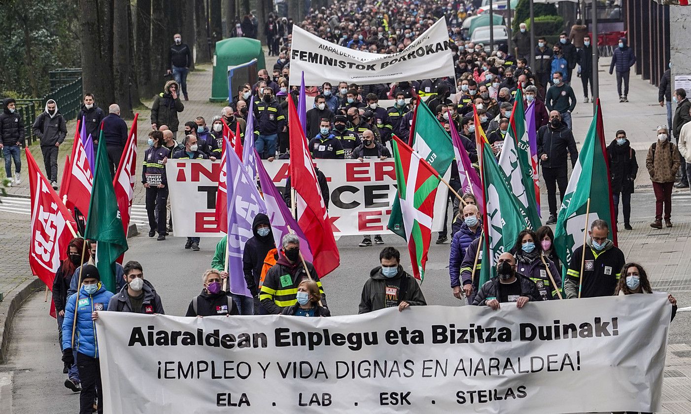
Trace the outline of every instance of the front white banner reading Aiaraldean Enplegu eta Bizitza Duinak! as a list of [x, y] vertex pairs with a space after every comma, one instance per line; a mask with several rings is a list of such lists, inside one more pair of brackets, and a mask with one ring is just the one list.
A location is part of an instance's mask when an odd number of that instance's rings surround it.
[[654, 412], [670, 314], [666, 294], [330, 318], [100, 312], [105, 413]]

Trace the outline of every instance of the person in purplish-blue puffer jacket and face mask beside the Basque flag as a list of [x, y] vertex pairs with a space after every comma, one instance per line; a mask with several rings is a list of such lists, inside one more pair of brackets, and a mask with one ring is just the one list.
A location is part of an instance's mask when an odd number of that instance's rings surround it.
[[471, 283], [463, 283], [461, 288], [461, 263], [466, 255], [468, 246], [473, 243], [475, 238], [482, 234], [482, 222], [480, 221], [480, 212], [477, 211], [477, 206], [468, 204], [463, 207], [463, 224], [461, 228], [453, 235], [451, 240], [451, 253], [448, 258], [448, 273], [451, 276], [451, 288], [453, 288], [453, 296], [456, 299], [464, 299], [469, 297], [472, 292]]

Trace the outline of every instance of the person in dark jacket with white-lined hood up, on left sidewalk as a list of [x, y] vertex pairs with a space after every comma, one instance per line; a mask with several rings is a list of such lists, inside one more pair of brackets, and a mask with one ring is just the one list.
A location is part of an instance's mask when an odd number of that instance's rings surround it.
[[46, 178], [53, 189], [57, 189], [57, 149], [67, 135], [65, 118], [57, 110], [55, 100], [46, 102], [46, 109], [34, 122], [34, 135], [41, 141], [41, 152], [44, 155]]

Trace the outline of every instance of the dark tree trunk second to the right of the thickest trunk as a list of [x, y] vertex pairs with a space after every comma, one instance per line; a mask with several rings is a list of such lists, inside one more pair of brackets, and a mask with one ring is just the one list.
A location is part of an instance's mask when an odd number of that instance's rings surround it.
[[137, 68], [137, 82], [142, 97], [153, 94], [151, 78], [151, 0], [137, 0], [135, 8], [135, 66]]

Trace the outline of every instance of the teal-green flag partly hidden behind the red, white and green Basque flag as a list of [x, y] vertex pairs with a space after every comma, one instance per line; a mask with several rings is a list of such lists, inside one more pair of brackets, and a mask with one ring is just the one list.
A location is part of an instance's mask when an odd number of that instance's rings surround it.
[[[415, 123], [413, 149], [417, 151], [420, 158], [427, 161], [439, 173], [439, 176], [443, 177], [455, 156], [451, 135], [448, 135], [444, 126], [439, 124], [426, 104], [419, 104], [413, 122]], [[388, 229], [408, 240], [398, 197], [395, 198], [391, 207]]]

